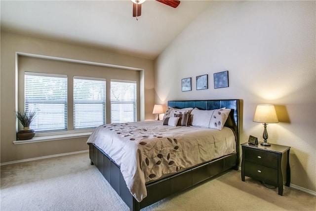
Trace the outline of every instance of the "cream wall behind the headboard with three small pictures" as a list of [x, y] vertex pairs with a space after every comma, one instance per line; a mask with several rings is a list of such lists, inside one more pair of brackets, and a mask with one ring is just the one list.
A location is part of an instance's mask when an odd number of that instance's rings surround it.
[[[276, 105], [269, 141], [290, 150], [291, 185], [316, 192], [316, 2], [213, 1], [155, 63], [156, 103], [242, 99], [241, 143], [263, 126], [252, 122], [260, 103]], [[213, 73], [229, 71], [214, 89]], [[208, 74], [209, 88], [196, 90]], [[181, 79], [192, 77], [192, 91]]]

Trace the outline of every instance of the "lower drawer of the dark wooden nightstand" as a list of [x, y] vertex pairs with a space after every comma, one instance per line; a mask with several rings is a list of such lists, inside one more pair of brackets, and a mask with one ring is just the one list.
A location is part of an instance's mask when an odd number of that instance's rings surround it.
[[267, 184], [277, 185], [277, 170], [253, 163], [245, 163], [245, 175]]

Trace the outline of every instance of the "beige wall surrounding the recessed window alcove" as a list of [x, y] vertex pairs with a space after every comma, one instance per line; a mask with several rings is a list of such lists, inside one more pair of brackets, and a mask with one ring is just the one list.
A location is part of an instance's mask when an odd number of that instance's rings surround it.
[[[28, 144], [16, 140], [16, 52], [60, 57], [141, 70], [140, 120], [154, 119], [154, 61], [124, 56], [111, 51], [52, 42], [1, 31], [0, 72], [0, 159], [1, 163], [87, 150], [87, 137]], [[100, 68], [104, 69], [104, 68]], [[114, 69], [112, 67], [112, 69]], [[81, 70], [80, 70], [81, 71]], [[106, 74], [105, 74], [106, 75]], [[111, 74], [115, 77], [115, 74]]]

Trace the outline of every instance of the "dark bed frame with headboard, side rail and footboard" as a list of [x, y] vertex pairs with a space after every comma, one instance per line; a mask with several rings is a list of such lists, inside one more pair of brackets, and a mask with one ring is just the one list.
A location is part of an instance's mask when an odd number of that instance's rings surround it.
[[163, 198], [195, 186], [227, 169], [233, 168], [237, 170], [239, 165], [239, 103], [239, 99], [168, 101], [168, 106], [173, 108], [191, 107], [213, 110], [226, 107], [232, 109], [225, 126], [232, 128], [236, 135], [237, 152], [203, 163], [197, 167], [186, 169], [168, 177], [146, 183], [147, 197], [141, 202], [137, 202], [129, 192], [119, 166], [94, 144], [89, 144], [91, 165], [94, 164], [100, 170], [113, 189], [132, 211], [139, 211]]

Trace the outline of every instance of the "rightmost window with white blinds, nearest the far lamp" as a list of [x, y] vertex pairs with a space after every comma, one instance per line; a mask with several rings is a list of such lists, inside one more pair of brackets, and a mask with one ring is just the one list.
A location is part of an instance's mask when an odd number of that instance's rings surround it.
[[136, 82], [111, 81], [111, 123], [136, 122]]

